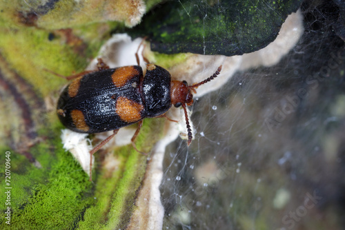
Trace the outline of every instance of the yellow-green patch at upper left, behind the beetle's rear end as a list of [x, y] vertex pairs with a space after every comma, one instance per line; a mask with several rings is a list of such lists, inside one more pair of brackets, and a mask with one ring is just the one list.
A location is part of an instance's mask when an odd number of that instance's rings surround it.
[[69, 75], [86, 63], [86, 57], [74, 52], [70, 45], [61, 44], [59, 39], [49, 41], [48, 38], [49, 32], [34, 28], [0, 28], [1, 54], [43, 96], [66, 83], [46, 70]]

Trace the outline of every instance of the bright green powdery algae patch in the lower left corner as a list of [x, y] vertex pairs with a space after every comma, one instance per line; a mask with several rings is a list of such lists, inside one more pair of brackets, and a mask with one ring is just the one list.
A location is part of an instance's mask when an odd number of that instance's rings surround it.
[[[13, 165], [22, 166], [13, 167], [11, 171], [11, 229], [72, 228], [92, 202], [88, 176], [72, 156], [61, 149], [61, 144], [56, 144], [54, 154], [51, 145], [46, 143], [32, 149], [41, 168], [28, 164], [25, 157], [11, 151]], [[9, 226], [4, 221], [6, 207], [3, 205], [1, 203], [3, 222], [0, 227], [6, 229]]]

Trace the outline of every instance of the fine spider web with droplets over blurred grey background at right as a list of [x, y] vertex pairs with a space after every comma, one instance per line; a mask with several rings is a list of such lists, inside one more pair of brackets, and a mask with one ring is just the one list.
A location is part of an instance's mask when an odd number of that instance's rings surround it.
[[195, 140], [176, 140], [164, 159], [164, 229], [342, 229], [345, 47], [335, 9], [306, 1], [304, 34], [284, 59], [195, 99]]

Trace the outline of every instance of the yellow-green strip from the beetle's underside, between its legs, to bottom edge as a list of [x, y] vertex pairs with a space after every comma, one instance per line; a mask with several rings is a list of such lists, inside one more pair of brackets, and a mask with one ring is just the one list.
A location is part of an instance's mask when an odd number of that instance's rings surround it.
[[[146, 119], [137, 136], [137, 149], [149, 153], [162, 133], [164, 119]], [[162, 130], [162, 129], [161, 129]], [[113, 171], [104, 166], [97, 176], [95, 187], [95, 205], [86, 210], [80, 229], [124, 229], [132, 212], [135, 210], [135, 199], [141, 182], [144, 180], [147, 158], [139, 154], [132, 145], [121, 147], [105, 160], [116, 165]]]

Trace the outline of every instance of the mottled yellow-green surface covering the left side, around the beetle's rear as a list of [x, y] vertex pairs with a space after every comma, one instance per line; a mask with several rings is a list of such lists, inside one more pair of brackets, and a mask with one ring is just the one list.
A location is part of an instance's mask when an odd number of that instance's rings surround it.
[[[55, 7], [68, 6], [66, 1], [40, 10], [37, 3], [31, 8], [28, 4], [0, 3], [0, 109], [6, 111], [0, 121], [0, 229], [123, 228], [134, 209], [132, 204], [145, 173], [146, 156], [131, 145], [116, 149], [113, 154], [119, 168], [109, 172], [101, 167], [101, 155], [97, 153], [90, 182], [61, 144], [63, 126], [55, 114], [55, 103], [68, 81], [46, 70], [66, 76], [82, 71], [110, 38], [111, 31], [123, 28], [124, 24], [84, 17], [74, 21], [75, 27], [69, 29], [63, 27], [66, 21], [55, 20], [55, 14], [49, 11], [61, 12]], [[32, 10], [39, 14], [32, 16]], [[42, 15], [48, 16], [43, 20]], [[13, 79], [14, 75], [20, 83]], [[17, 96], [21, 96], [21, 103]], [[29, 113], [23, 114], [23, 105]], [[28, 135], [26, 127], [30, 122], [37, 137]], [[138, 149], [150, 151], [161, 135], [162, 122], [163, 119], [144, 121], [136, 142]], [[8, 205], [3, 202], [6, 151], [11, 152], [10, 226], [4, 219]], [[41, 167], [30, 163], [26, 153]]]

